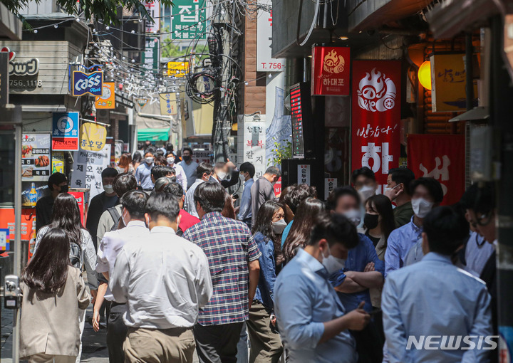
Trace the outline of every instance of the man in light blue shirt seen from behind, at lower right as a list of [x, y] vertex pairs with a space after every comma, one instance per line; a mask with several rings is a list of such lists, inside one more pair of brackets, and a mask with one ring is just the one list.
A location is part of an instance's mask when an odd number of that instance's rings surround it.
[[488, 362], [497, 346], [487, 287], [451, 262], [468, 237], [465, 216], [442, 206], [423, 228], [424, 258], [391, 272], [383, 288], [388, 361]]

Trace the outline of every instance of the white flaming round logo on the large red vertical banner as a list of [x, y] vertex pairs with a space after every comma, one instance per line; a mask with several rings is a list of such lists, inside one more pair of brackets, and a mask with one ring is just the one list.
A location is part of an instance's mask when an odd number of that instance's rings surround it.
[[395, 84], [376, 68], [358, 84], [358, 106], [371, 112], [385, 112], [395, 106]]

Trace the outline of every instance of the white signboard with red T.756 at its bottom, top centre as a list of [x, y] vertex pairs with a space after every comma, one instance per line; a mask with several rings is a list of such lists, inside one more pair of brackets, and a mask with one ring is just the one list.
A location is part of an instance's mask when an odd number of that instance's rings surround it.
[[[271, 0], [260, 0], [259, 4], [272, 6]], [[257, 72], [281, 72], [285, 68], [284, 58], [272, 58], [272, 9], [258, 10], [257, 19]]]

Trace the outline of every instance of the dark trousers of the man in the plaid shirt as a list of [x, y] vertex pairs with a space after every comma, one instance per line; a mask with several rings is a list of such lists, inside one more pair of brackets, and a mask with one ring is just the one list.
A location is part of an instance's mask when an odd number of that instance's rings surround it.
[[243, 322], [195, 325], [196, 352], [200, 363], [237, 363], [237, 343]]

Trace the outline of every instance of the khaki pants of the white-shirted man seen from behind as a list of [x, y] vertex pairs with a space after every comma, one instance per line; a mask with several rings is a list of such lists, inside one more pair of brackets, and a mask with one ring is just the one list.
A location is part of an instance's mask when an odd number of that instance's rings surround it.
[[125, 363], [190, 363], [195, 351], [192, 328], [128, 328], [123, 345]]

